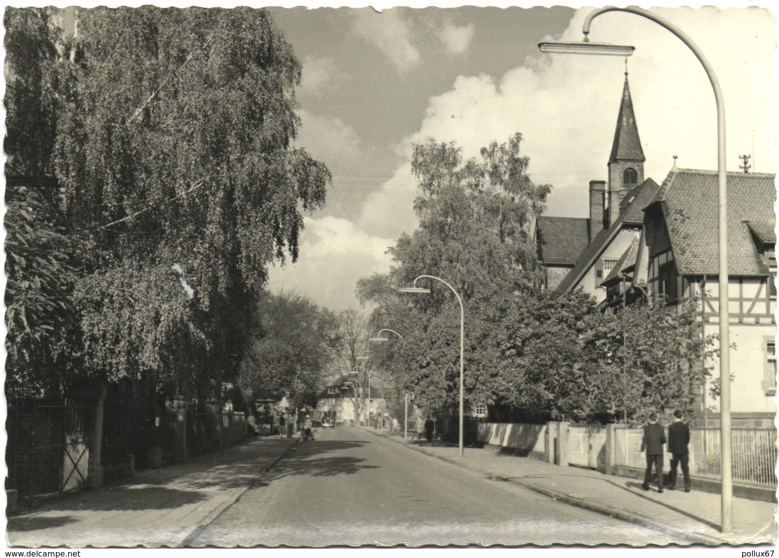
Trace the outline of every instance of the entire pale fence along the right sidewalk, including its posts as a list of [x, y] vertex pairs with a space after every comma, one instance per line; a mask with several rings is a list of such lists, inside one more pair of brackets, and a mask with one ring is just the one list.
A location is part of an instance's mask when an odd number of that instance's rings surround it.
[[[732, 429], [734, 494], [774, 501], [777, 477], [777, 431]], [[690, 429], [689, 471], [693, 488], [719, 492], [721, 484], [720, 429]], [[643, 429], [624, 425], [585, 425], [548, 422], [545, 425], [485, 422], [478, 442], [511, 448], [516, 455], [561, 466], [597, 469], [609, 475], [643, 479], [646, 457], [641, 451]], [[664, 457], [669, 471], [671, 454]], [[682, 476], [679, 471], [679, 477]]]

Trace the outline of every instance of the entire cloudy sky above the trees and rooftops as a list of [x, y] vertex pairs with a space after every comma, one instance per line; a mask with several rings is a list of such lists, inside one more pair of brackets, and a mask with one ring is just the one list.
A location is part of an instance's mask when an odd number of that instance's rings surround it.
[[[271, 9], [303, 65], [297, 143], [333, 172], [325, 210], [305, 218], [298, 263], [274, 267], [273, 291], [332, 309], [358, 308], [358, 278], [389, 270], [386, 248], [414, 231], [411, 144], [455, 141], [465, 157], [521, 132], [546, 214], [587, 217], [587, 188], [605, 179], [625, 59], [541, 55], [580, 41], [589, 9]], [[724, 92], [728, 170], [752, 155], [774, 172], [774, 14], [767, 9], [657, 9], [695, 41]], [[640, 16], [594, 20], [592, 41], [632, 44], [627, 69], [647, 157], [661, 182], [679, 167], [716, 170], [714, 94], [700, 62]]]

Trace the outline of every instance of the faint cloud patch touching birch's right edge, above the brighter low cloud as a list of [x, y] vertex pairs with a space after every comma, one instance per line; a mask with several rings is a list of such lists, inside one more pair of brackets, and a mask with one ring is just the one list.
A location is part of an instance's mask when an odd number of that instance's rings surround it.
[[305, 147], [330, 170], [353, 166], [359, 160], [360, 138], [351, 125], [340, 118], [314, 115], [303, 109], [298, 115], [301, 127], [295, 145]]

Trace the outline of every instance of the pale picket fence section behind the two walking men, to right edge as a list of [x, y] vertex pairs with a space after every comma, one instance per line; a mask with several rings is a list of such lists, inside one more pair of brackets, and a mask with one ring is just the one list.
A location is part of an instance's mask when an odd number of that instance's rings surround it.
[[[615, 429], [615, 465], [646, 467], [641, 452], [642, 429]], [[774, 429], [731, 429], [733, 482], [777, 486], [777, 432]], [[718, 428], [690, 429], [689, 473], [702, 479], [721, 479], [721, 433]], [[671, 454], [666, 455], [668, 464]]]

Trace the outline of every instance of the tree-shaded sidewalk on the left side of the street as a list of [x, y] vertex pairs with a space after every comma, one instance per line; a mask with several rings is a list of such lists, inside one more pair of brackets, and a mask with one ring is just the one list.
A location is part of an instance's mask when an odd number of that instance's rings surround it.
[[294, 443], [254, 439], [182, 464], [137, 471], [9, 517], [12, 546], [182, 546], [231, 506]]

